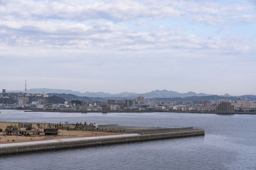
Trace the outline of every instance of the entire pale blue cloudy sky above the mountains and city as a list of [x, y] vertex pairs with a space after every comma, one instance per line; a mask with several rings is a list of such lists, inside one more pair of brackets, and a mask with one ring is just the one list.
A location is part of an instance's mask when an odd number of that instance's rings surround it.
[[256, 1], [0, 0], [0, 89], [256, 94]]

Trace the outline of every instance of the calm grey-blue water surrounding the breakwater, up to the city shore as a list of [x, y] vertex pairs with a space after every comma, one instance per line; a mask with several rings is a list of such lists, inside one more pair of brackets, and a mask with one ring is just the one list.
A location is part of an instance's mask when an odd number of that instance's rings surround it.
[[1, 110], [0, 121], [97, 122], [205, 129], [205, 136], [194, 138], [6, 155], [0, 157], [0, 169], [256, 169], [256, 115]]

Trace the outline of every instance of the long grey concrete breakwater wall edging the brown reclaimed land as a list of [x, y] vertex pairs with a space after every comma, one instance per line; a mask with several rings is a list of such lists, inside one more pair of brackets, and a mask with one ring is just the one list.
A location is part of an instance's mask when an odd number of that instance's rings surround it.
[[111, 136], [95, 136], [88, 138], [53, 139], [48, 141], [31, 141], [24, 143], [0, 144], [0, 155], [10, 153], [36, 152], [44, 150], [57, 150], [63, 148], [76, 148], [84, 146], [108, 145], [154, 139], [183, 138], [204, 135], [202, 129], [187, 129], [180, 131], [159, 132], [152, 134], [119, 134]]

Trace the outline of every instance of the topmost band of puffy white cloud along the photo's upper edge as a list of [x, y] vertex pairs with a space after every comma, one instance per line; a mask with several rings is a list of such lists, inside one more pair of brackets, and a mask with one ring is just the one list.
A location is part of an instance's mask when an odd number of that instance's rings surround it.
[[[2, 4], [2, 5], [1, 5]], [[218, 1], [3, 1], [0, 18], [10, 16], [23, 19], [95, 20], [114, 21], [134, 18], [170, 18], [198, 15], [210, 17], [238, 17], [240, 13], [250, 15], [255, 6], [250, 4], [221, 5]], [[217, 23], [218, 24], [218, 23]]]

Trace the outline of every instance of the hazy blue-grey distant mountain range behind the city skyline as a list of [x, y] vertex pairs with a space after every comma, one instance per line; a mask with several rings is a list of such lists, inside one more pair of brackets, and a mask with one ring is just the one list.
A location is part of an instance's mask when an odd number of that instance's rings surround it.
[[[19, 92], [19, 91], [12, 91]], [[73, 94], [79, 97], [190, 97], [190, 96], [211, 96], [211, 94], [204, 93], [195, 93], [195, 92], [187, 92], [187, 93], [179, 93], [171, 90], [154, 90], [152, 92], [147, 92], [143, 94], [137, 94], [133, 92], [122, 92], [119, 94], [109, 94], [106, 92], [77, 92], [73, 90], [63, 90], [63, 89], [29, 89], [28, 93], [40, 93], [40, 94]], [[225, 94], [223, 96], [230, 97], [230, 95]]]

